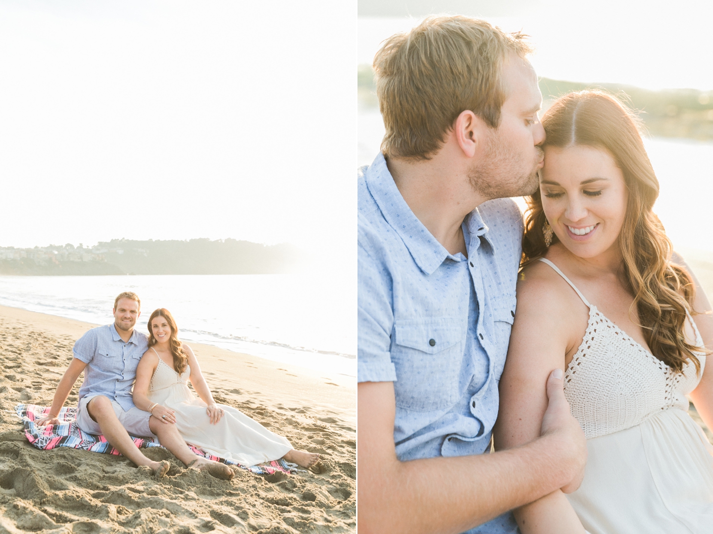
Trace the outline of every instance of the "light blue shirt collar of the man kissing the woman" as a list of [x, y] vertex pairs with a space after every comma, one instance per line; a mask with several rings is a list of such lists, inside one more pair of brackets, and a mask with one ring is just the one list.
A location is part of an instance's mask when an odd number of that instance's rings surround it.
[[[433, 274], [443, 263], [443, 260], [451, 255], [406, 204], [406, 200], [401, 196], [399, 188], [394, 183], [394, 178], [389, 173], [389, 168], [386, 167], [386, 159], [383, 154], [379, 153], [374, 163], [369, 165], [364, 173], [364, 179], [366, 187], [369, 188], [369, 192], [374, 197], [384, 219], [404, 241], [416, 265], [424, 273]], [[471, 250], [473, 252], [475, 250], [472, 246], [473, 237], [479, 237], [488, 232], [488, 227], [483, 222], [477, 208], [463, 220], [463, 230], [466, 230], [471, 236], [470, 242], [466, 243], [468, 255], [470, 255]], [[492, 246], [490, 240], [488, 243]]]

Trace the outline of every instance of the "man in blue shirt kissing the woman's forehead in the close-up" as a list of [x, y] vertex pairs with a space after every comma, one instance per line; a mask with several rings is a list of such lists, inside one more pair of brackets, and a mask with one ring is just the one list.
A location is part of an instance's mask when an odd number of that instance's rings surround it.
[[521, 34], [453, 16], [374, 59], [386, 136], [358, 183], [360, 533], [515, 533], [508, 510], [583, 476], [561, 369], [541, 437], [483, 454], [523, 232], [503, 197], [533, 192], [543, 163], [529, 51]]

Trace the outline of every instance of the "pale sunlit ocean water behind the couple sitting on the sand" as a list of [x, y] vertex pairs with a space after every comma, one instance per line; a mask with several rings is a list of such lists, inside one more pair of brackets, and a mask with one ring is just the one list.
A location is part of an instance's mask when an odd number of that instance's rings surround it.
[[339, 274], [0, 276], [0, 305], [113, 322], [116, 295], [141, 299], [137, 328], [168, 309], [185, 342], [356, 376], [356, 283]]

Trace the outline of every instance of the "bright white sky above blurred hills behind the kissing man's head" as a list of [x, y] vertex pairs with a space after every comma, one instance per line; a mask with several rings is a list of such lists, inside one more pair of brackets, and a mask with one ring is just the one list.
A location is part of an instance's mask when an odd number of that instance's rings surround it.
[[[446, 4], [440, 1], [438, 10], [447, 12], [440, 7]], [[540, 76], [713, 90], [709, 0], [532, 0], [519, 9], [503, 8], [503, 14], [484, 18], [532, 37], [537, 48], [532, 61]], [[381, 40], [417, 21], [360, 18], [358, 62], [371, 63]]]

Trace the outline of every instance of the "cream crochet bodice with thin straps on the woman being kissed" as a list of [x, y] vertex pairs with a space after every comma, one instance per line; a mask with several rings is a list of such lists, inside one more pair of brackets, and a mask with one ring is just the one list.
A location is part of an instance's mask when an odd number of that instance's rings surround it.
[[[585, 436], [630, 428], [665, 409], [687, 411], [686, 395], [700, 380], [694, 364], [687, 362], [682, 373], [673, 371], [590, 304], [552, 262], [540, 261], [555, 269], [589, 307], [587, 330], [564, 377], [565, 397]], [[696, 324], [691, 317], [689, 321], [696, 345], [703, 346]], [[703, 374], [705, 354], [696, 356]]]

